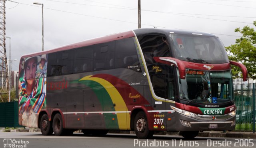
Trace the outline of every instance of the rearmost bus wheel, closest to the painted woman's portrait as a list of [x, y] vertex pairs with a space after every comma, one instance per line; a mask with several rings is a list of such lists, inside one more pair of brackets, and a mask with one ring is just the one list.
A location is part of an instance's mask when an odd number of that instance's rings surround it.
[[52, 122], [49, 121], [47, 114], [43, 114], [40, 120], [40, 130], [44, 136], [51, 135], [53, 132]]

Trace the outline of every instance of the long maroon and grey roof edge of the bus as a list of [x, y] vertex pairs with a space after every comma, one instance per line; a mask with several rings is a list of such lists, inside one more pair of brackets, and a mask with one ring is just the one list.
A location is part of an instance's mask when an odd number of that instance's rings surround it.
[[68, 49], [73, 49], [73, 48], [79, 48], [79, 47], [83, 47], [83, 46], [89, 46], [89, 45], [94, 45], [94, 44], [99, 44], [99, 43], [104, 43], [104, 42], [110, 42], [113, 40], [120, 40], [122, 38], [130, 38], [130, 37], [135, 36], [134, 33], [136, 34], [136, 36], [139, 36], [142, 34], [166, 34], [166, 35], [168, 35], [170, 33], [186, 34], [186, 35], [196, 34], [196, 35], [203, 35], [203, 36], [215, 36], [213, 34], [209, 34], [206, 32], [198, 32], [198, 31], [191, 31], [191, 30], [143, 28], [143, 29], [136, 29], [136, 30], [130, 30], [127, 32], [117, 33], [117, 34], [111, 34], [111, 35], [103, 36], [103, 37], [99, 37], [99, 38], [93, 38], [93, 39], [85, 40], [82, 42], [77, 42], [74, 44], [62, 46], [59, 48], [54, 48], [52, 50], [45, 50], [45, 51], [36, 52], [36, 53], [32, 53], [32, 54], [26, 54], [26, 55], [23, 55], [21, 58], [37, 56], [37, 55], [42, 55], [42, 54], [49, 54], [52, 52], [58, 52], [58, 51], [68, 50]]

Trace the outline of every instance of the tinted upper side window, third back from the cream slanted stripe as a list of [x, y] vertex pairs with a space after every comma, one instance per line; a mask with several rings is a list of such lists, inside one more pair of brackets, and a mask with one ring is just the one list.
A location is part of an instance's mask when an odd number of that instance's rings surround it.
[[78, 48], [74, 52], [74, 73], [92, 71], [93, 46]]

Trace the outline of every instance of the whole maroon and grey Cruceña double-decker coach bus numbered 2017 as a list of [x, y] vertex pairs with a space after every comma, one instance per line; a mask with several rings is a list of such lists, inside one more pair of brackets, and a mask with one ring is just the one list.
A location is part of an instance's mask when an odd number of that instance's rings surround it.
[[22, 56], [19, 124], [43, 135], [235, 128], [230, 65], [220, 39], [185, 30], [138, 29]]

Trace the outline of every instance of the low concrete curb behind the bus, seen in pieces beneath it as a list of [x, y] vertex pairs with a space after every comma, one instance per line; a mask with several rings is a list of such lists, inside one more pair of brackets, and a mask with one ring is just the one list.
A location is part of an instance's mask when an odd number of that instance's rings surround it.
[[[0, 132], [41, 132], [38, 128], [16, 128], [16, 129], [0, 129]], [[75, 132], [82, 132], [81, 130]], [[112, 134], [135, 134], [134, 131], [111, 130]], [[179, 132], [157, 132], [155, 135], [179, 135]], [[223, 132], [223, 131], [204, 131], [199, 132], [200, 137], [216, 137], [216, 138], [256, 138], [256, 133], [252, 132]]]

